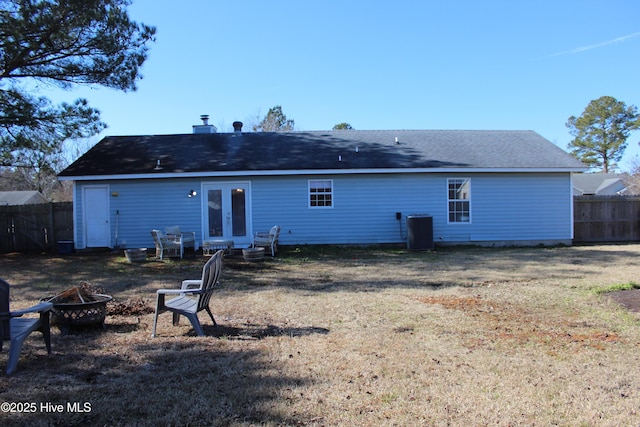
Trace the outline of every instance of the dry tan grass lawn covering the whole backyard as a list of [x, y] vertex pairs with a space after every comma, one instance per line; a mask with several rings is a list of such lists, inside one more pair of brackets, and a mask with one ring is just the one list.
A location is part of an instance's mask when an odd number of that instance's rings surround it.
[[139, 309], [203, 262], [0, 255], [12, 308], [83, 283], [115, 299], [105, 331], [53, 328], [49, 357], [33, 334], [10, 377], [0, 354], [0, 424], [640, 425], [640, 317], [602, 293], [640, 280], [640, 245], [227, 257], [220, 326], [165, 313], [151, 338]]

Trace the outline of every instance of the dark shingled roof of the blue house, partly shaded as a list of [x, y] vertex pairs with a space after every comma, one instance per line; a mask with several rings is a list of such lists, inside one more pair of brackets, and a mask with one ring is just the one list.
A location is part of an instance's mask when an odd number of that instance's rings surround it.
[[111, 136], [60, 176], [433, 168], [584, 165], [533, 131], [344, 130]]

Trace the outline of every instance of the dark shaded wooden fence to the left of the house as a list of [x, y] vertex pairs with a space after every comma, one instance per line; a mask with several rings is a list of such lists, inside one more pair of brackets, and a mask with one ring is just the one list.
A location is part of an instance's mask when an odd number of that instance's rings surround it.
[[0, 206], [0, 253], [57, 250], [73, 240], [73, 203]]

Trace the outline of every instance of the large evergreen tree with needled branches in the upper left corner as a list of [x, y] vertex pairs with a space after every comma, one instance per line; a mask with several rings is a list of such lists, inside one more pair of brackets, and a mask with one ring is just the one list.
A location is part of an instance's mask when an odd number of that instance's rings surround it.
[[86, 100], [53, 105], [34, 83], [135, 90], [156, 30], [131, 21], [129, 4], [0, 0], [0, 166], [52, 170], [65, 140], [106, 127]]

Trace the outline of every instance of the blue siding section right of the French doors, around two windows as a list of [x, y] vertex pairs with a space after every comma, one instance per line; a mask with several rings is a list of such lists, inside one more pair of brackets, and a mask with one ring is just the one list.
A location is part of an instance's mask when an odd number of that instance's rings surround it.
[[[332, 209], [308, 207], [310, 178], [254, 181], [254, 228], [280, 224], [283, 244], [399, 243], [407, 215], [429, 214], [442, 243], [572, 237], [569, 174], [327, 176], [334, 183]], [[471, 178], [471, 223], [447, 223], [447, 178]], [[276, 188], [282, 194], [274, 203]]]

